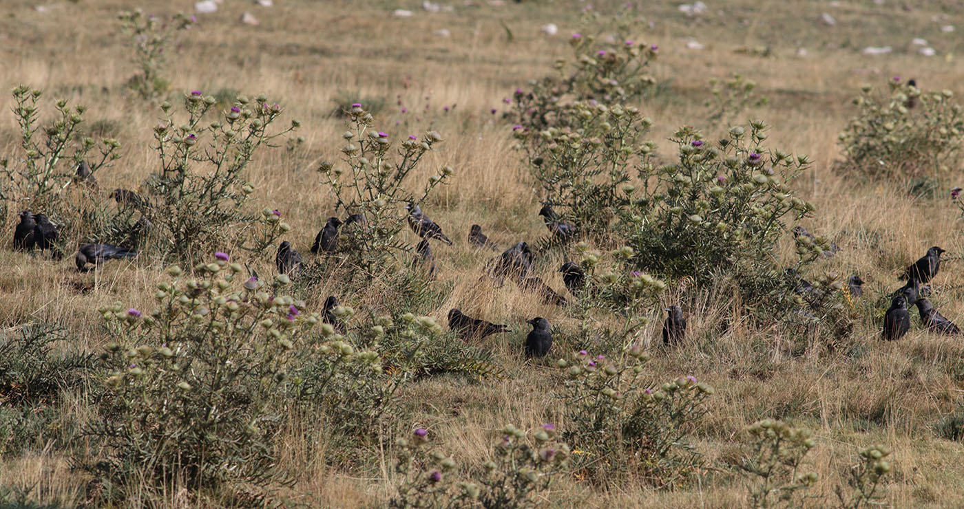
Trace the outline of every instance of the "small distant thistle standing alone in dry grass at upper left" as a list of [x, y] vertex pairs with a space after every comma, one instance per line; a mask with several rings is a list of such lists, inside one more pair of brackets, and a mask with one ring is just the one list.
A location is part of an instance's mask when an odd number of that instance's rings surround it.
[[171, 87], [162, 76], [166, 54], [180, 33], [194, 24], [194, 16], [177, 13], [162, 20], [137, 9], [120, 13], [118, 19], [120, 32], [130, 39], [129, 44], [134, 48], [132, 60], [140, 70], [127, 81], [127, 87], [145, 99], [166, 93]]

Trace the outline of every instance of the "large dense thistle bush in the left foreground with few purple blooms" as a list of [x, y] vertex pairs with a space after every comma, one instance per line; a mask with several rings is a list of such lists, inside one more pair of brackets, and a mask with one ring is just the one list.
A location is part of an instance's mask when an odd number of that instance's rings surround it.
[[319, 318], [281, 294], [287, 276], [248, 278], [225, 253], [195, 267], [196, 279], [168, 273], [151, 313], [100, 308], [116, 343], [95, 377], [102, 393], [88, 434], [101, 452], [85, 465], [115, 499], [171, 486], [260, 499], [286, 482], [275, 449], [281, 394]]

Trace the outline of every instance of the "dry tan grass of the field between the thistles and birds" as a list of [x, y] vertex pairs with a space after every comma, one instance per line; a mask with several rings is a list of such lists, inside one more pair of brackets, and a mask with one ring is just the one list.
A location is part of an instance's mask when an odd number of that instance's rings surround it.
[[[88, 122], [102, 122], [122, 144], [119, 162], [97, 173], [100, 189], [138, 189], [156, 167], [151, 127], [159, 112], [124, 89], [135, 68], [116, 15], [135, 7], [157, 14], [187, 12], [192, 2], [80, 0], [43, 10], [21, 0], [3, 4], [0, 89], [26, 84], [43, 89], [46, 101], [64, 97], [86, 105]], [[259, 153], [248, 171], [254, 210], [278, 209], [293, 227], [285, 239], [306, 257], [315, 233], [334, 213], [333, 198], [315, 168], [339, 155], [345, 125], [333, 115], [337, 109], [361, 101], [394, 139], [429, 129], [442, 134], [444, 142], [415, 175], [422, 182], [442, 165], [455, 168], [451, 184], [424, 207], [455, 242], [435, 248], [439, 276], [434, 285], [443, 297], [431, 315], [443, 323], [450, 308], [460, 307], [473, 317], [509, 323], [515, 332], [490, 337], [484, 345], [493, 351], [501, 376], [479, 383], [428, 377], [406, 385], [400, 392], [401, 413], [392, 416], [396, 421], [388, 427], [425, 427], [440, 448], [467, 465], [488, 457], [504, 424], [533, 429], [559, 415], [560, 403], [552, 397], [558, 383], [554, 370], [522, 359], [528, 330], [524, 320], [546, 317], [553, 326], [574, 333], [578, 325], [565, 310], [534, 302], [515, 286], [477, 285], [489, 255], [471, 251], [465, 238], [473, 223], [502, 246], [545, 235], [536, 216], [538, 196], [520, 154], [512, 149], [511, 125], [490, 110], [501, 111], [503, 98], [512, 90], [548, 74], [557, 58], [571, 54], [566, 39], [581, 30], [580, 10], [587, 4], [495, 4], [458, 1], [451, 10], [429, 13], [411, 0], [276, 0], [270, 8], [225, 0], [217, 13], [198, 14], [197, 25], [167, 55], [165, 72], [172, 97], [193, 89], [265, 93], [276, 98], [285, 115], [302, 121], [299, 135], [305, 142], [298, 150]], [[612, 13], [624, 4], [598, 1], [593, 7]], [[848, 339], [863, 353], [827, 353], [814, 346], [790, 355], [790, 339], [780, 329], [743, 321], [719, 333], [719, 321], [736, 306], [725, 294], [707, 295], [705, 305], [684, 309], [688, 339], [666, 349], [659, 341], [664, 307], [659, 306], [644, 334], [644, 346], [653, 357], [647, 373], [659, 382], [694, 375], [716, 389], [708, 416], [692, 432], [710, 469], [698, 482], [676, 490], [641, 484], [602, 489], [569, 476], [559, 479], [542, 501], [552, 507], [745, 506], [744, 480], [729, 467], [740, 457], [737, 436], [750, 423], [772, 418], [814, 431], [817, 446], [808, 456], [808, 470], [816, 471], [819, 481], [812, 493], [827, 502], [836, 500], [833, 487], [845, 483], [857, 451], [881, 443], [895, 451], [886, 506], [964, 506], [959, 461], [964, 445], [936, 431], [961, 407], [964, 344], [959, 338], [927, 333], [913, 310], [915, 326], [903, 340], [879, 340], [886, 294], [899, 286], [897, 274], [903, 267], [931, 245], [948, 249], [951, 257], [934, 281], [935, 305], [951, 320], [964, 317], [964, 291], [955, 282], [961, 262], [953, 260], [964, 242], [960, 213], [949, 198], [950, 189], [962, 184], [955, 180], [961, 178], [961, 168], [942, 176], [942, 188], [932, 198], [908, 196], [904, 183], [867, 182], [831, 169], [842, 157], [837, 137], [855, 113], [851, 99], [863, 84], [882, 87], [898, 75], [916, 78], [924, 89], [964, 92], [964, 66], [957, 60], [964, 54], [959, 36], [964, 23], [954, 32], [942, 31], [942, 26], [964, 20], [964, 4], [737, 0], [708, 2], [708, 11], [697, 16], [681, 13], [675, 2], [630, 4], [639, 4], [630, 10], [633, 15], [649, 20], [636, 40], [659, 46], [653, 73], [660, 91], [637, 105], [655, 122], [652, 139], [658, 150], [672, 146], [667, 139], [679, 126], [710, 128], [708, 80], [739, 73], [757, 82], [759, 94], [769, 99], [741, 117], [765, 120], [771, 126], [770, 146], [813, 159], [813, 169], [796, 184], [817, 206], [805, 225], [843, 248], [820, 262], [821, 271], [858, 273], [867, 282], [865, 296], [855, 303], [860, 318]], [[414, 15], [393, 16], [395, 9]], [[258, 25], [238, 21], [246, 11], [254, 13]], [[821, 23], [820, 13], [830, 13], [836, 24]], [[558, 25], [556, 36], [540, 32], [547, 23]], [[449, 36], [438, 35], [440, 29]], [[689, 38], [705, 47], [687, 48]], [[937, 55], [919, 55], [913, 38], [926, 39]], [[887, 45], [894, 47], [892, 54], [861, 53], [867, 46]], [[0, 158], [13, 161], [20, 152], [12, 107], [10, 94], [0, 95]], [[13, 235], [15, 214], [10, 210], [4, 217], [5, 239]], [[414, 238], [411, 232], [406, 235]], [[791, 250], [788, 242], [779, 254]], [[274, 274], [272, 262], [273, 257], [262, 261], [258, 272]], [[69, 257], [55, 262], [4, 249], [0, 265], [6, 267], [0, 274], [0, 326], [5, 334], [32, 322], [56, 322], [77, 338], [69, 346], [95, 355], [112, 341], [100, 325], [97, 308], [120, 300], [125, 306], [150, 309], [154, 284], [164, 277], [164, 266], [150, 256], [78, 273]], [[557, 260], [540, 264], [540, 275], [561, 291], [557, 266]], [[317, 311], [325, 297], [338, 290], [337, 281], [330, 280], [300, 297], [309, 310]], [[342, 301], [359, 310], [378, 305], [384, 297], [373, 291], [346, 295]], [[672, 303], [674, 297], [674, 292], [666, 293], [661, 304]], [[818, 340], [813, 339], [813, 345]], [[565, 343], [553, 346], [550, 356], [562, 356], [564, 348]], [[65, 395], [64, 422], [93, 419], [93, 403], [85, 394]], [[383, 447], [363, 454], [365, 461], [353, 468], [332, 467], [324, 453], [307, 446], [323, 442], [324, 430], [308, 425], [313, 419], [293, 416], [281, 441], [281, 466], [295, 477], [285, 497], [319, 507], [385, 506], [398, 482], [391, 474], [391, 454]], [[83, 441], [71, 445], [85, 446]], [[90, 478], [71, 469], [70, 455], [69, 450], [47, 446], [0, 458], [0, 486], [30, 488], [31, 499], [40, 505], [85, 503]], [[177, 495], [159, 503], [171, 508], [201, 505], [206, 504]]]

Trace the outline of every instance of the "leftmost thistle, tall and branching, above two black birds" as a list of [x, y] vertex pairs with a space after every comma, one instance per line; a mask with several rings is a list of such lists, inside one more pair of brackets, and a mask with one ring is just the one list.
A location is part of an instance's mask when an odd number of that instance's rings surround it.
[[81, 124], [87, 108], [70, 107], [66, 99], [56, 101], [53, 119], [41, 121], [41, 96], [40, 89], [24, 85], [13, 89], [13, 116], [20, 130], [22, 154], [0, 161], [0, 213], [6, 216], [12, 207], [43, 212], [64, 224], [62, 232], [70, 235], [81, 205], [75, 203], [80, 200], [67, 197], [74, 190], [90, 192], [85, 186], [72, 186], [77, 165], [87, 163], [94, 175], [120, 159], [120, 142], [83, 136]]

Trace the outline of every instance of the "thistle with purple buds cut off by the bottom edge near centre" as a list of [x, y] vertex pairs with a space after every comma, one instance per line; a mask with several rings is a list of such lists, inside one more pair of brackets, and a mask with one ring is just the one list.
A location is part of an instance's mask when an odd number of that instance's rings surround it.
[[527, 439], [526, 433], [506, 425], [493, 447], [493, 460], [482, 465], [484, 473], [458, 480], [458, 465], [443, 452], [429, 451], [428, 431], [416, 428], [408, 439], [396, 442], [395, 473], [401, 477], [398, 495], [388, 503], [393, 508], [523, 509], [538, 505], [537, 496], [546, 492], [554, 477], [566, 471], [569, 446], [555, 438], [555, 426]]

